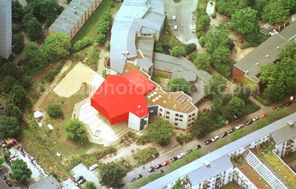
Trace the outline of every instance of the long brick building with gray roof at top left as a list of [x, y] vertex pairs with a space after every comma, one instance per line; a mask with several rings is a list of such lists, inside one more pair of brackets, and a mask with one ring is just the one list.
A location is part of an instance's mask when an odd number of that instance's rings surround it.
[[93, 14], [103, 0], [72, 0], [49, 27], [49, 35], [63, 32], [70, 40]]

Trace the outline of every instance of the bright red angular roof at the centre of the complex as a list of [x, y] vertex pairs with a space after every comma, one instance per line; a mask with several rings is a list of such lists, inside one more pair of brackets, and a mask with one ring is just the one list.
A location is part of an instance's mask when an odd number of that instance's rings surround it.
[[144, 94], [155, 85], [136, 70], [127, 75], [108, 75], [91, 97], [91, 106], [111, 124], [128, 121], [129, 112], [138, 117], [149, 114]]

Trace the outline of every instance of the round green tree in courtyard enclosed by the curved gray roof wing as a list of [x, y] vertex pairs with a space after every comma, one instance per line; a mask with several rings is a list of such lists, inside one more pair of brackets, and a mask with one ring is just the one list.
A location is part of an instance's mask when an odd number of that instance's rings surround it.
[[168, 82], [168, 91], [177, 92], [183, 91], [185, 94], [189, 94], [190, 92], [195, 92], [190, 88], [190, 82], [180, 78], [173, 78]]

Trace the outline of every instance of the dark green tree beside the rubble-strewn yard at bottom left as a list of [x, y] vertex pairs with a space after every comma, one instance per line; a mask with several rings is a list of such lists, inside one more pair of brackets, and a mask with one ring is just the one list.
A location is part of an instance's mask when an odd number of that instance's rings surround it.
[[31, 169], [22, 159], [16, 160], [11, 166], [11, 170], [13, 175], [12, 178], [17, 180], [18, 184], [27, 184], [27, 180], [32, 176]]

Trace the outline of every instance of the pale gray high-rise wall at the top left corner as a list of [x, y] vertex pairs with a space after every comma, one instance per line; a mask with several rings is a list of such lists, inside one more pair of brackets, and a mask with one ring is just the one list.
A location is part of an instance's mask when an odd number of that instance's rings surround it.
[[8, 58], [12, 51], [11, 0], [0, 0], [0, 56]]

